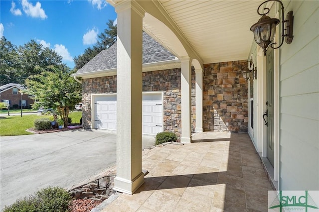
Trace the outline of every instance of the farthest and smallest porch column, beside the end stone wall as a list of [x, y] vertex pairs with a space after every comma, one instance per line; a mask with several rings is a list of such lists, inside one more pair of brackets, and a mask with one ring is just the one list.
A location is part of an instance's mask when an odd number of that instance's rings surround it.
[[195, 70], [196, 126], [195, 132], [203, 131], [203, 70]]

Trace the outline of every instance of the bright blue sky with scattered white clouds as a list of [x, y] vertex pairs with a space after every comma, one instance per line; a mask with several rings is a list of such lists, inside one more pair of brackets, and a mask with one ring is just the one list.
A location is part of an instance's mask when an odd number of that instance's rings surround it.
[[16, 46], [34, 39], [73, 68], [73, 58], [93, 46], [116, 17], [105, 0], [0, 0], [0, 37]]

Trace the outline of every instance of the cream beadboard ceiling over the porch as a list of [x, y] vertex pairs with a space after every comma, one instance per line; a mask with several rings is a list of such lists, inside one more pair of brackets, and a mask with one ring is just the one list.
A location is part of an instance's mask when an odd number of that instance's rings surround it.
[[[203, 63], [244, 60], [253, 41], [251, 25], [260, 16], [260, 0], [160, 0]], [[154, 26], [144, 24], [164, 45]], [[169, 43], [166, 46], [169, 49]]]

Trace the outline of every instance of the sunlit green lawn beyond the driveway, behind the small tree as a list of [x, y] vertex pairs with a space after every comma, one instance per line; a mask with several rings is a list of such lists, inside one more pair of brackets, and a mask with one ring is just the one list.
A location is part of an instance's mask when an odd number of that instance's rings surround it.
[[[26, 129], [34, 127], [34, 120], [38, 118], [45, 118], [47, 115], [23, 115], [5, 116], [0, 118], [0, 136], [7, 135], [28, 135], [32, 134], [25, 131]], [[70, 112], [69, 117], [72, 118], [72, 123], [80, 123], [82, 112]]]

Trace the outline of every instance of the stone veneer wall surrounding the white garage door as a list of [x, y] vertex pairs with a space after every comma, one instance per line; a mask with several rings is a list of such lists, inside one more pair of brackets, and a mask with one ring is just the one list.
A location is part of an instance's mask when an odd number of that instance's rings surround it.
[[[181, 132], [180, 69], [143, 72], [143, 92], [163, 92], [163, 129]], [[91, 126], [91, 95], [116, 93], [116, 76], [82, 80], [82, 123]], [[192, 71], [192, 130], [195, 129], [195, 72]]]

